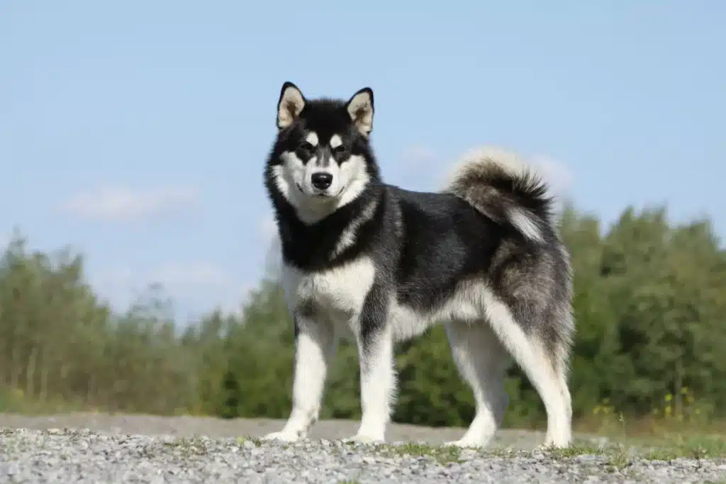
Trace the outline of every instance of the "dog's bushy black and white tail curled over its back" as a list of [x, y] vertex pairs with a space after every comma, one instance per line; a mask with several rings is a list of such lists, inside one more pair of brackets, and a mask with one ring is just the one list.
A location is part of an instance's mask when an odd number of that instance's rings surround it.
[[544, 242], [552, 223], [552, 196], [531, 167], [510, 152], [479, 148], [462, 157], [444, 192], [473, 205], [524, 237]]

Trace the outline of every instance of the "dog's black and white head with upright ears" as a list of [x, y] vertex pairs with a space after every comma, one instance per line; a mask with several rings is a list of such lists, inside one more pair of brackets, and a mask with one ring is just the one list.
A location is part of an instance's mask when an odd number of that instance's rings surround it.
[[277, 102], [277, 128], [269, 175], [305, 222], [355, 200], [377, 176], [369, 145], [370, 88], [345, 102], [306, 99], [295, 84], [286, 82]]

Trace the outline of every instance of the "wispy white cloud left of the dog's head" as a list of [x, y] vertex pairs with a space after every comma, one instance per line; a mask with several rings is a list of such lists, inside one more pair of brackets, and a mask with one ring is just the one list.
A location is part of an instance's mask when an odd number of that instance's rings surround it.
[[61, 210], [82, 218], [104, 221], [134, 221], [189, 208], [197, 201], [193, 186], [159, 186], [134, 190], [122, 186], [102, 186], [70, 197]]

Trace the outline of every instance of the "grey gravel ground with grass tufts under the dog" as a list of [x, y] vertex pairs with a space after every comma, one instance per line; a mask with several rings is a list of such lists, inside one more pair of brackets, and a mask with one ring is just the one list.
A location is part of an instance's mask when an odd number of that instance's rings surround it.
[[[721, 483], [726, 460], [670, 462], [532, 450], [502, 430], [489, 451], [436, 448], [462, 429], [393, 425], [391, 446], [342, 443], [356, 422], [319, 422], [301, 443], [256, 440], [274, 420], [0, 414], [0, 483]], [[251, 436], [252, 438], [241, 438]], [[396, 442], [398, 441], [398, 442]], [[400, 443], [406, 441], [407, 443]], [[425, 442], [415, 444], [411, 442]], [[502, 446], [511, 448], [502, 451]]]

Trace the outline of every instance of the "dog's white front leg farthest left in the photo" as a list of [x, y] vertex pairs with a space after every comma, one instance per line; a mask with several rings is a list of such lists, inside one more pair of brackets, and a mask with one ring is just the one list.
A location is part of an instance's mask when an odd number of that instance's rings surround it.
[[293, 410], [285, 427], [264, 439], [292, 442], [306, 437], [319, 417], [327, 369], [337, 346], [338, 339], [328, 321], [295, 316]]

